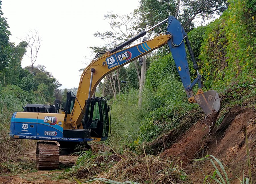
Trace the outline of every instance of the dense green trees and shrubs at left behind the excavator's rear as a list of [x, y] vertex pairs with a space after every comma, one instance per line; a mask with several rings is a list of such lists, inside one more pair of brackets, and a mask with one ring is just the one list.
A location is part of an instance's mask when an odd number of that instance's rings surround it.
[[22, 111], [27, 103], [53, 103], [61, 98], [61, 84], [43, 65], [22, 68], [21, 61], [26, 54], [28, 43], [18, 45], [9, 42], [11, 35], [6, 18], [3, 17], [0, 1], [0, 153], [18, 153], [26, 149], [26, 141], [10, 140], [9, 125], [13, 112]]

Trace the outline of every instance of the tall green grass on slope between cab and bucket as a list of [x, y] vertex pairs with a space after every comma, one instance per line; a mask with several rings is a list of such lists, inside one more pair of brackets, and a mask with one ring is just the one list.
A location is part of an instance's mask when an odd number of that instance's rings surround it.
[[[159, 62], [161, 63], [162, 60]], [[161, 133], [177, 127], [182, 115], [192, 108], [198, 108], [198, 105], [188, 102], [176, 68], [165, 62], [166, 65], [162, 70], [152, 67], [157, 70], [154, 72], [149, 68], [143, 89], [142, 108], [138, 108], [137, 105], [138, 90], [133, 88], [119, 93], [117, 99], [110, 102], [112, 106], [112, 137], [108, 141], [110, 145], [118, 149], [129, 149], [129, 146], [155, 139]]]

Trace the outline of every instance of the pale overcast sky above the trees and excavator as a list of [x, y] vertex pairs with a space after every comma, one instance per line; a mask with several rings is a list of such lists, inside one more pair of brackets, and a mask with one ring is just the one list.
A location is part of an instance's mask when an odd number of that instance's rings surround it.
[[[80, 68], [89, 62], [89, 46], [103, 45], [97, 31], [110, 29], [104, 14], [127, 14], [139, 6], [139, 0], [3, 0], [2, 11], [10, 26], [10, 41], [18, 44], [29, 30], [38, 29], [42, 45], [36, 65], [45, 65], [62, 84], [61, 89], [78, 87]], [[31, 65], [25, 56], [22, 67]]]

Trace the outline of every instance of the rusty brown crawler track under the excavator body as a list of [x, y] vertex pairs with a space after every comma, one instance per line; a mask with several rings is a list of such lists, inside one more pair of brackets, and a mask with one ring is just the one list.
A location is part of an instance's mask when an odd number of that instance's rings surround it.
[[59, 147], [56, 143], [37, 143], [36, 166], [38, 170], [54, 170], [59, 168]]

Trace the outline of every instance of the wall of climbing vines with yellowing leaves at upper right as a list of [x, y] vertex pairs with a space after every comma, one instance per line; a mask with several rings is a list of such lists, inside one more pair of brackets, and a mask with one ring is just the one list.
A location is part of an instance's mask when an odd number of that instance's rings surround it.
[[[205, 87], [224, 92], [232, 85], [250, 83], [255, 78], [256, 34], [248, 14], [248, 1], [230, 1], [223, 15], [206, 27], [199, 66]], [[253, 35], [253, 36], [252, 36]], [[248, 84], [242, 86], [248, 87]]]

